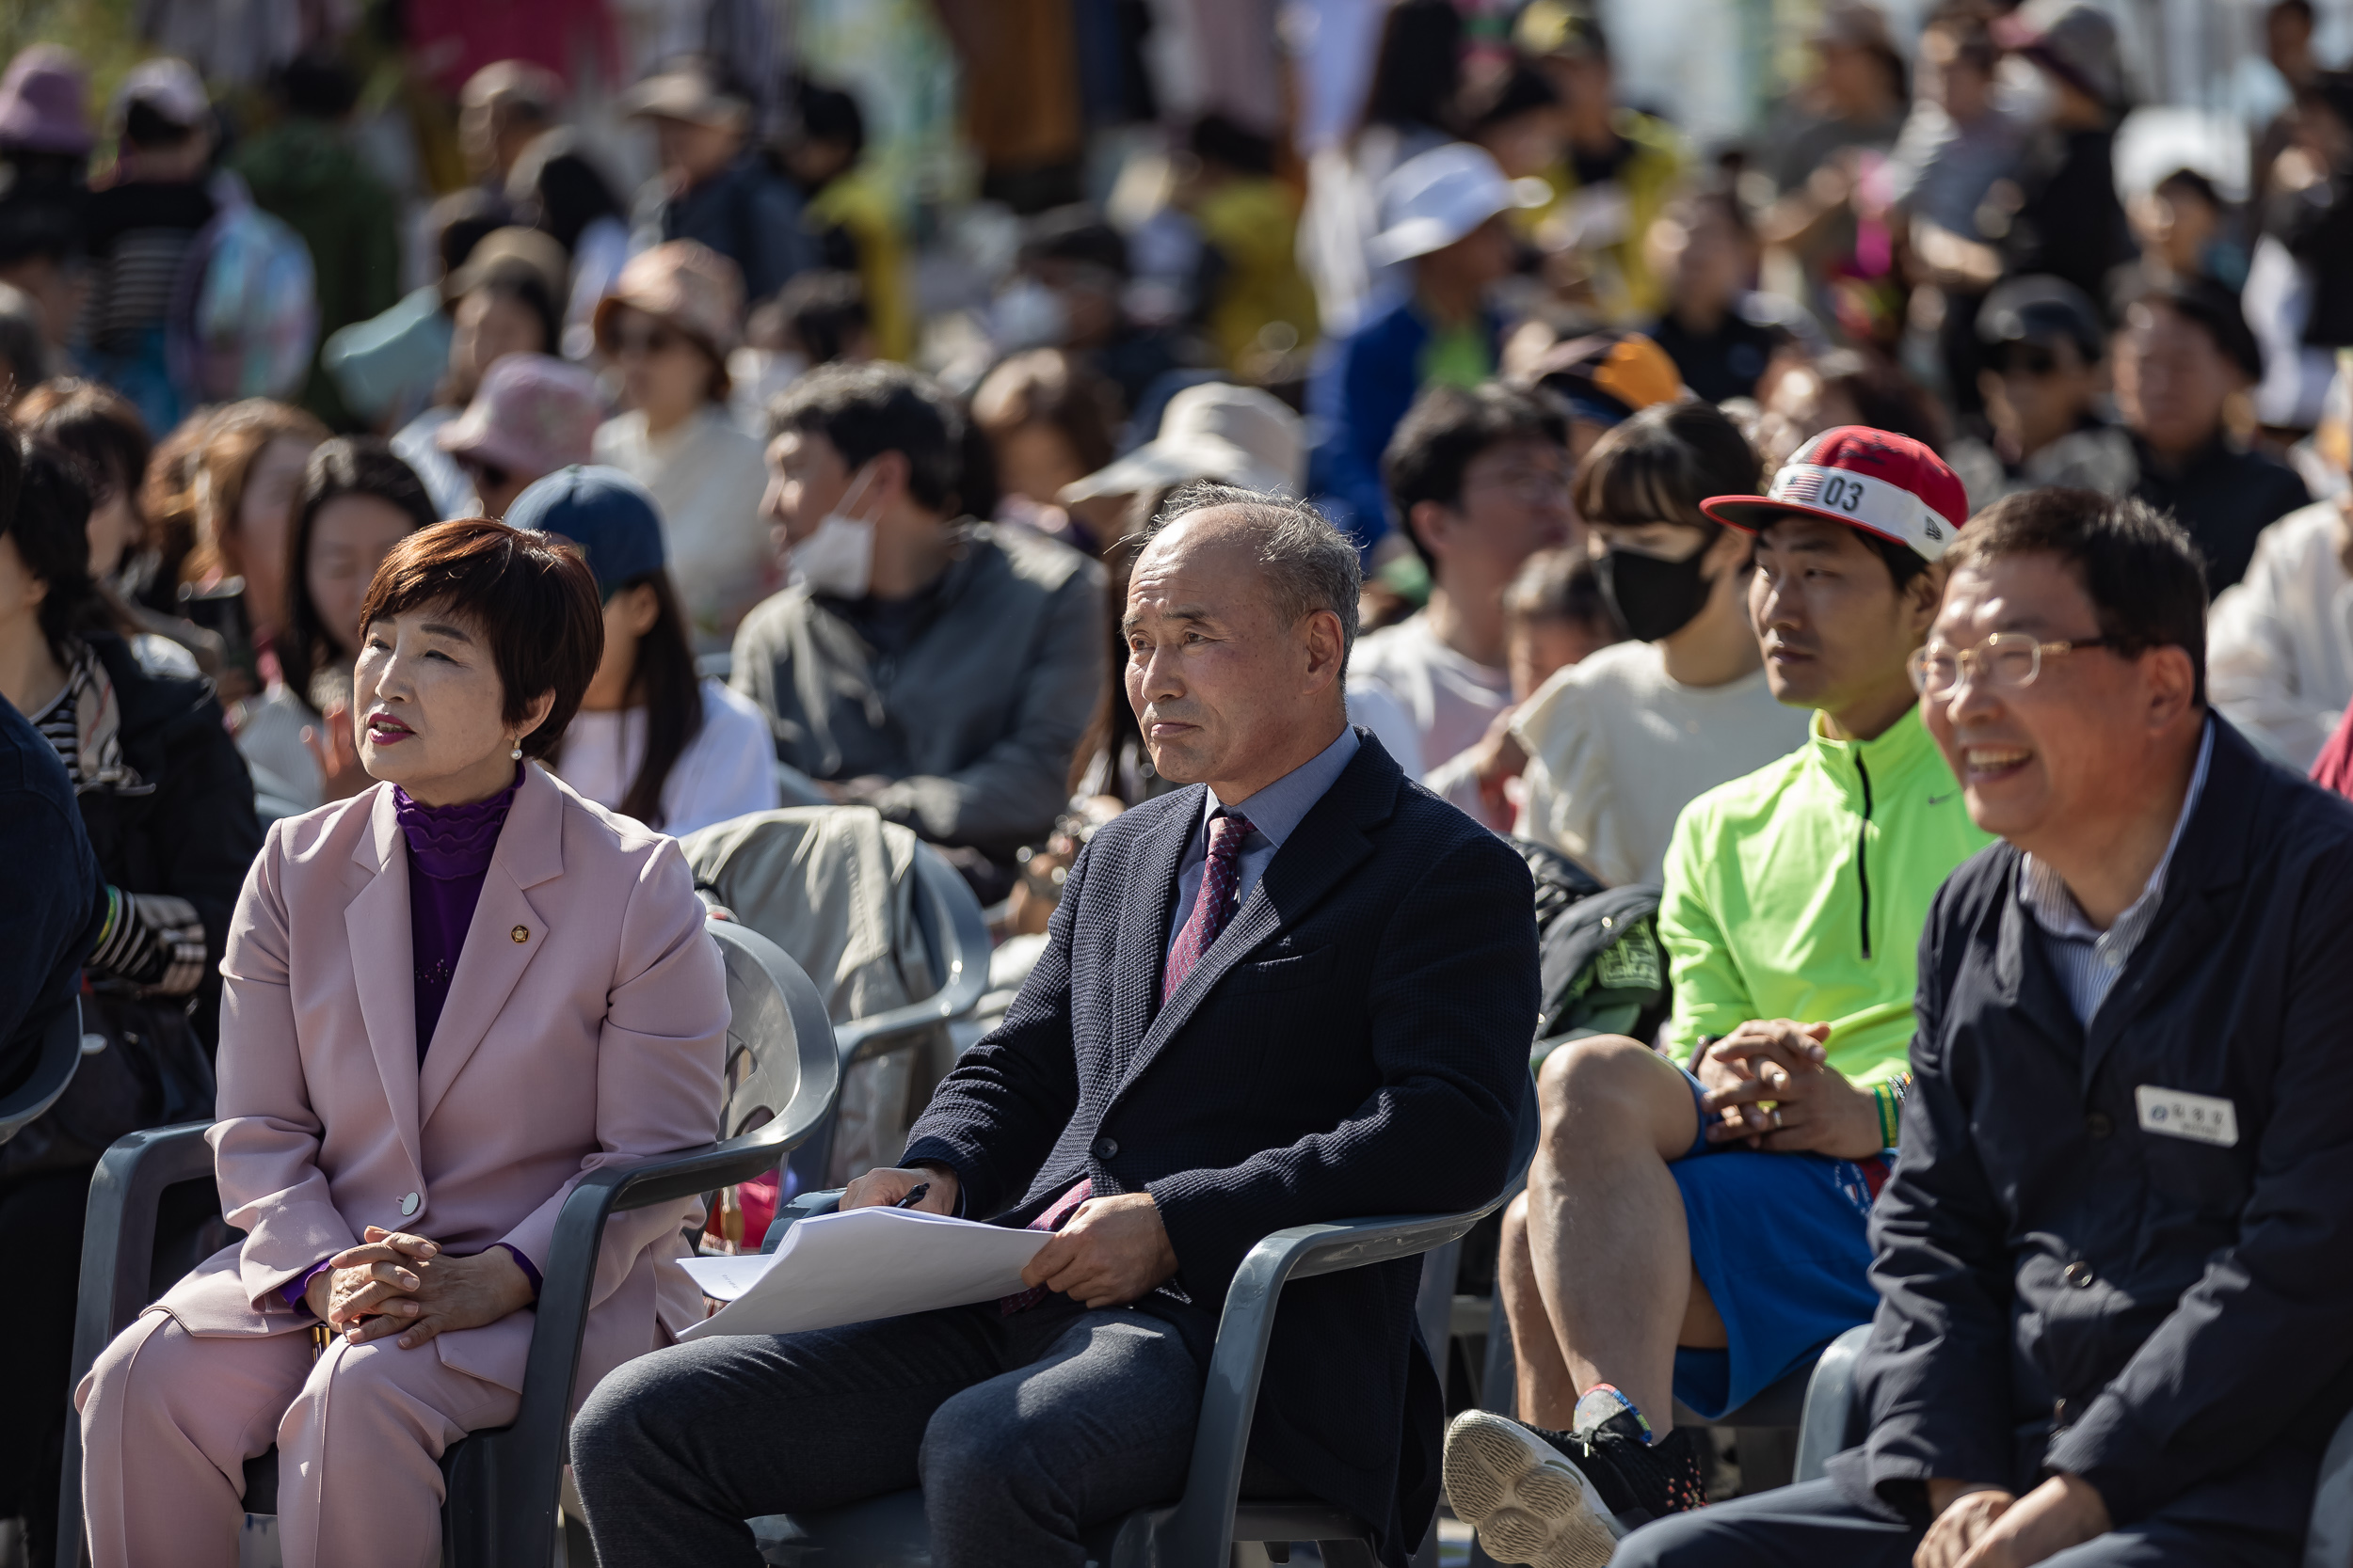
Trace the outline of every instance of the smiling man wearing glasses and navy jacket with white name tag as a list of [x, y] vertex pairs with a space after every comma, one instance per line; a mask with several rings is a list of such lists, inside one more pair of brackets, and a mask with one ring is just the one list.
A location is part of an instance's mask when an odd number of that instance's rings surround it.
[[2207, 710], [2172, 520], [2045, 489], [1948, 564], [1920, 710], [2002, 844], [1920, 945], [1871, 1436], [1617, 1561], [2289, 1568], [2353, 1408], [2353, 813]]

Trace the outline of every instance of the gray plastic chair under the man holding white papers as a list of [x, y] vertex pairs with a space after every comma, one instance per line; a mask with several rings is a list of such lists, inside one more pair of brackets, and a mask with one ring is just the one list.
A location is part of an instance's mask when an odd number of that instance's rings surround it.
[[[1497, 1197], [1452, 1215], [1294, 1225], [1249, 1248], [1217, 1326], [1184, 1497], [1104, 1526], [1089, 1540], [1089, 1559], [1101, 1568], [1224, 1568], [1235, 1542], [1313, 1540], [1329, 1568], [1374, 1568], [1372, 1530], [1353, 1514], [1313, 1497], [1240, 1497], [1242, 1455], [1249, 1448], [1249, 1420], [1259, 1403], [1282, 1286], [1442, 1248], [1501, 1201]], [[769, 1234], [781, 1241], [791, 1222], [833, 1213], [838, 1204], [840, 1192], [812, 1192], [788, 1206], [779, 1215], [786, 1225]], [[932, 1561], [920, 1490], [758, 1519], [753, 1533], [767, 1561], [786, 1568], [929, 1568]]]

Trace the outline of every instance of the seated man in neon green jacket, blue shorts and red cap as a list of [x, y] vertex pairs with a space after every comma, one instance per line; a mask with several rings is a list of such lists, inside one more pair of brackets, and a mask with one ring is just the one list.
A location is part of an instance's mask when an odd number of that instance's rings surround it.
[[1539, 1072], [1499, 1284], [1529, 1425], [1466, 1413], [1447, 1436], [1454, 1509], [1506, 1563], [1605, 1563], [1626, 1528], [1701, 1502], [1675, 1401], [1720, 1418], [1871, 1316], [1866, 1220], [1908, 1084], [1920, 931], [1991, 842], [1906, 668], [1967, 515], [1953, 470], [1849, 425], [1769, 496], [1704, 510], [1758, 536], [1767, 682], [1814, 719], [1675, 823], [1661, 1048], [1581, 1039]]

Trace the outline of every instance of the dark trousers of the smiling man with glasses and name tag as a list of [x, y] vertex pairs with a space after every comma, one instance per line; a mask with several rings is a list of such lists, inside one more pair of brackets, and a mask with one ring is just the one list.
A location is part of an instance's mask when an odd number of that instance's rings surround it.
[[[1920, 1535], [1857, 1507], [1835, 1481], [1807, 1481], [1642, 1526], [1609, 1568], [1911, 1568]], [[2249, 1530], [2160, 1512], [2042, 1568], [2297, 1568], [2301, 1540], [2301, 1521]]]

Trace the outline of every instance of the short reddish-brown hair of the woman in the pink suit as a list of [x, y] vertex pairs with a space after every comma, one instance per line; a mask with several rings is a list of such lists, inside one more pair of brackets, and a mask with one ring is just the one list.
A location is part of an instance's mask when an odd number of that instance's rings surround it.
[[525, 757], [553, 752], [605, 658], [605, 602], [579, 550], [489, 517], [435, 522], [393, 545], [376, 567], [360, 625], [426, 604], [447, 604], [489, 637], [508, 724], [541, 691], [555, 693], [548, 717], [522, 738]]

